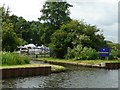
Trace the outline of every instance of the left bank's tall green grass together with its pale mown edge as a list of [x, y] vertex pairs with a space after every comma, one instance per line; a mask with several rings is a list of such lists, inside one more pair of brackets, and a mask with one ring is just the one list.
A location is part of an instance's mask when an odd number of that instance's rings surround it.
[[30, 64], [31, 58], [27, 55], [20, 55], [11, 52], [0, 52], [0, 54], [2, 55], [2, 60], [0, 60], [2, 61], [2, 65], [0, 65], [1, 69], [51, 66], [52, 72], [61, 72], [65, 70], [63, 66], [59, 65]]

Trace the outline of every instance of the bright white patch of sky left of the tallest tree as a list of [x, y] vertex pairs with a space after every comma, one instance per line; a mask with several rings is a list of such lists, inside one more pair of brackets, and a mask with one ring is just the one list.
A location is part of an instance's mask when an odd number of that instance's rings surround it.
[[23, 16], [30, 21], [40, 17], [40, 10], [44, 4], [44, 0], [0, 0], [0, 2], [10, 7], [11, 14]]

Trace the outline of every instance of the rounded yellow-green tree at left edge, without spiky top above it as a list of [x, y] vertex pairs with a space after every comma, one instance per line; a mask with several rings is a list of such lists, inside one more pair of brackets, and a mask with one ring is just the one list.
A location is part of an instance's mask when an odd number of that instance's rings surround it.
[[13, 52], [19, 45], [19, 39], [13, 31], [12, 23], [2, 23], [2, 49]]

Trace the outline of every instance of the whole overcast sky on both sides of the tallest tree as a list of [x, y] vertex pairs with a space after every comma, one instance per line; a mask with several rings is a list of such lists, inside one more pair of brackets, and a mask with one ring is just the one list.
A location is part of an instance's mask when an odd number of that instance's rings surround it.
[[[67, 0], [73, 5], [70, 17], [103, 30], [107, 40], [118, 42], [118, 1], [119, 0]], [[0, 0], [0, 5], [10, 7], [11, 14], [37, 21], [45, 0]]]

